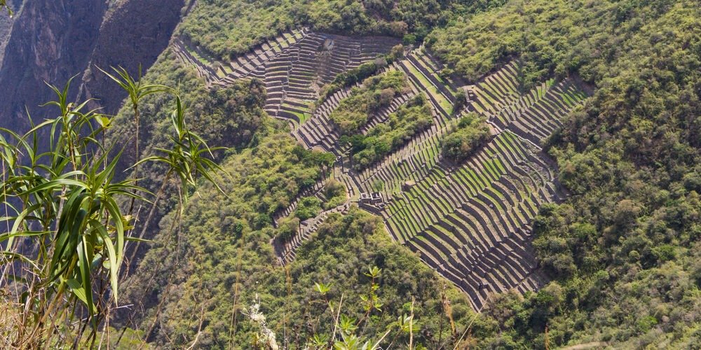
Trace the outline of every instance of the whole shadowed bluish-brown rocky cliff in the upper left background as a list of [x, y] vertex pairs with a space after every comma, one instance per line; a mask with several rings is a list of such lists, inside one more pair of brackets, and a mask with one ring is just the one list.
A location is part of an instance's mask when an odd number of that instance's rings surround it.
[[114, 113], [125, 94], [95, 74], [124, 66], [144, 70], [168, 45], [179, 22], [183, 0], [125, 0], [109, 8], [104, 0], [27, 1], [15, 18], [0, 65], [0, 125], [25, 130], [25, 106], [34, 120], [51, 109], [44, 81], [62, 86], [76, 74], [88, 80], [72, 86], [71, 96], [101, 98], [105, 113]]

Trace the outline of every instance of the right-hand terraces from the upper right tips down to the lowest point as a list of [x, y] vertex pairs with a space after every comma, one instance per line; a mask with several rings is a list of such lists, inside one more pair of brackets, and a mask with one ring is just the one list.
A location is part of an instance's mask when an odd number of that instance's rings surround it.
[[436, 126], [356, 177], [363, 190], [388, 199], [369, 210], [393, 239], [468, 293], [475, 309], [490, 293], [543, 285], [530, 224], [542, 204], [564, 193], [538, 145], [587, 96], [576, 80], [549, 80], [522, 94], [517, 73], [514, 62], [468, 87], [468, 109], [487, 118], [496, 135], [464, 164], [442, 159], [447, 128]]

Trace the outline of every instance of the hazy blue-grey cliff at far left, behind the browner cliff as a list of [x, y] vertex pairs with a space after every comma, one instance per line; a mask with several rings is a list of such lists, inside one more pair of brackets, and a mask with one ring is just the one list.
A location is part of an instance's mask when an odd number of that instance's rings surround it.
[[85, 70], [104, 10], [103, 0], [27, 1], [0, 69], [0, 125], [24, 129], [25, 106], [35, 120], [46, 116], [37, 109], [51, 97], [43, 82], [62, 85]]

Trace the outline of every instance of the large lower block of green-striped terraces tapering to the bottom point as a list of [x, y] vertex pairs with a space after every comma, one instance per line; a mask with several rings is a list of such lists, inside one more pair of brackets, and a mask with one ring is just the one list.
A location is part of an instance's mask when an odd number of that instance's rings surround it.
[[511, 132], [465, 164], [434, 167], [381, 211], [393, 238], [470, 295], [533, 290], [543, 279], [529, 247], [538, 207], [562, 198], [545, 156]]

